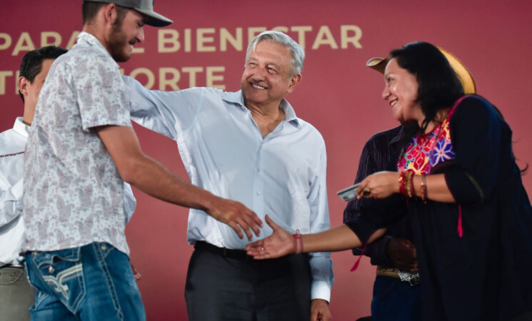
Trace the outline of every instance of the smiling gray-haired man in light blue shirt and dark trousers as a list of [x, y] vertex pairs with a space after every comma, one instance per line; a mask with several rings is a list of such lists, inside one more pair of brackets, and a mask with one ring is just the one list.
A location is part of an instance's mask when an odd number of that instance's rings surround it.
[[[177, 142], [194, 185], [292, 233], [326, 230], [325, 143], [284, 99], [301, 81], [304, 55], [290, 37], [265, 31], [248, 47], [236, 93], [149, 91], [124, 77], [131, 116]], [[265, 226], [261, 238], [268, 235]], [[190, 320], [331, 319], [330, 253], [254, 261], [248, 240], [198, 209], [190, 210], [187, 238], [196, 249], [185, 291]]]

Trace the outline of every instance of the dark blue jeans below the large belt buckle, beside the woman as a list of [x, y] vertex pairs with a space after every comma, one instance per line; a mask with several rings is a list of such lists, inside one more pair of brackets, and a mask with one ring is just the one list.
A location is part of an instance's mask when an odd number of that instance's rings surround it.
[[420, 285], [411, 286], [398, 277], [377, 275], [373, 284], [371, 320], [418, 321], [421, 312]]

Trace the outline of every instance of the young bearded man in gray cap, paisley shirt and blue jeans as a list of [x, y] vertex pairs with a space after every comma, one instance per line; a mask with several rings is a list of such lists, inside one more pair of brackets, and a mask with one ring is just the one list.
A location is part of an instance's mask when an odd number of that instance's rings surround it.
[[251, 210], [180, 180], [140, 149], [116, 61], [144, 40], [144, 24], [171, 24], [151, 3], [84, 1], [83, 32], [42, 88], [24, 160], [22, 250], [36, 320], [146, 319], [124, 235], [123, 179], [201, 208], [240, 237], [259, 234]]

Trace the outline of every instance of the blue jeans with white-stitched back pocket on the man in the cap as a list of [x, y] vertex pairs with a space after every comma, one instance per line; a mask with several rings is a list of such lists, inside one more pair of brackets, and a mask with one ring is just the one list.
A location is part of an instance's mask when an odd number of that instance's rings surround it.
[[26, 254], [32, 320], [146, 320], [129, 258], [109, 243]]

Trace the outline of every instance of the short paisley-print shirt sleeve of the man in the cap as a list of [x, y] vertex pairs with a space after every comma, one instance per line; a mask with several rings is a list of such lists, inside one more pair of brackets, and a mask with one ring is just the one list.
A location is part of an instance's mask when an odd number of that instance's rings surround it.
[[131, 126], [118, 65], [104, 55], [87, 55], [76, 61], [71, 75], [84, 131], [97, 126]]

